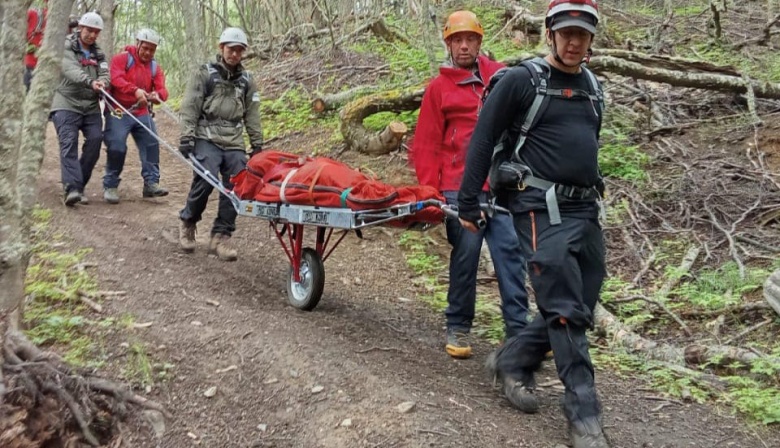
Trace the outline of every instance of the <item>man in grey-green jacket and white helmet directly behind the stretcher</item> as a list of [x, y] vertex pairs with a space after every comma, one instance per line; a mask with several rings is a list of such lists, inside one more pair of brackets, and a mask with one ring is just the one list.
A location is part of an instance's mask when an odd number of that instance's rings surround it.
[[[232, 189], [230, 177], [244, 169], [247, 150], [244, 129], [249, 135], [251, 155], [263, 148], [260, 128], [260, 94], [252, 75], [241, 65], [249, 46], [239, 28], [226, 28], [219, 38], [215, 62], [202, 65], [187, 85], [181, 105], [181, 141], [179, 151], [192, 155], [211, 173], [220, 173], [222, 185]], [[201, 220], [213, 187], [194, 174], [187, 204], [179, 213], [179, 244], [185, 252], [195, 250], [195, 226]], [[220, 260], [238, 258], [229, 245], [236, 230], [236, 210], [224, 195], [211, 228], [209, 253]]]

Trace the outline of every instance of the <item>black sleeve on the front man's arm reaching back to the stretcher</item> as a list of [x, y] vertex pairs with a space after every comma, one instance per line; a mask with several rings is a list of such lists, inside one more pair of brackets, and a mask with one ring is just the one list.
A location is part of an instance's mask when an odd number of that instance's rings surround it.
[[458, 214], [464, 220], [476, 222], [480, 218], [479, 194], [490, 172], [493, 148], [504, 131], [525, 116], [533, 95], [531, 74], [524, 67], [509, 70], [488, 95], [471, 136], [458, 194]]

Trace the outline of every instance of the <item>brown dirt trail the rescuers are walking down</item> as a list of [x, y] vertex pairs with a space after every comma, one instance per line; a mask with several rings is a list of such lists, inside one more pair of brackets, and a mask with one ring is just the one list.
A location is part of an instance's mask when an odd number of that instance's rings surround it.
[[[158, 117], [158, 126], [164, 138], [177, 141], [170, 120]], [[212, 203], [199, 227], [198, 250], [182, 254], [175, 239], [177, 212], [191, 177], [186, 167], [163, 151], [163, 184], [171, 195], [142, 200], [131, 145], [122, 202], [108, 205], [102, 200], [104, 161], [103, 153], [87, 188], [91, 204], [65, 208], [50, 128], [40, 201], [54, 211], [53, 230], [66, 234], [74, 247], [94, 248], [89, 257], [98, 265], [100, 288], [127, 291], [125, 298], [107, 303], [108, 313], [153, 322], [125, 337], [143, 341], [155, 360], [175, 364], [173, 380], [156, 384], [149, 394], [174, 419], [161, 439], [136, 421], [131, 426], [137, 430], [125, 437], [129, 446], [567, 443], [558, 388], [542, 390], [539, 414], [523, 415], [487, 382], [482, 371], [487, 344], [478, 345], [467, 361], [444, 353], [442, 318], [414, 300], [396, 231], [368, 231], [362, 241], [348, 237], [325, 263], [322, 302], [314, 312], [300, 312], [286, 304], [286, 258], [265, 221], [239, 218], [234, 240], [240, 258], [220, 262], [206, 255]], [[121, 359], [126, 350], [119, 342], [107, 350]], [[231, 365], [237, 369], [216, 373]], [[693, 404], [661, 407], [646, 385], [602, 370], [597, 375], [605, 425], [616, 447], [773, 445], [728, 411]], [[554, 378], [553, 367], [546, 366], [539, 383]], [[211, 386], [217, 386], [216, 396], [206, 398]], [[316, 386], [322, 391], [315, 393]], [[402, 414], [396, 407], [407, 401], [416, 407]]]

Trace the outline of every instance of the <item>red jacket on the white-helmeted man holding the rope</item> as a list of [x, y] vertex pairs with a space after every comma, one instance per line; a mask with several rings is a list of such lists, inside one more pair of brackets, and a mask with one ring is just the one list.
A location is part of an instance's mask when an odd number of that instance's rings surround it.
[[[133, 65], [127, 68], [128, 55], [133, 56]], [[126, 109], [132, 108], [135, 103], [135, 91], [145, 90], [146, 93], [157, 92], [162, 101], [168, 100], [168, 90], [165, 88], [165, 74], [160, 64], [152, 79], [152, 63], [144, 64], [138, 58], [137, 49], [133, 45], [125, 47], [125, 51], [111, 58], [111, 95]], [[133, 115], [140, 117], [148, 114], [145, 108], [133, 110]]]

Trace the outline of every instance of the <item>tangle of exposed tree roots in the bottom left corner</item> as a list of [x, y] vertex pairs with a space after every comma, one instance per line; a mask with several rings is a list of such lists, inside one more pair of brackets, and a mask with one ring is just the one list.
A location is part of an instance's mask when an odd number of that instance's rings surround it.
[[[0, 447], [106, 445], [119, 432], [128, 404], [171, 417], [154, 401], [119, 384], [82, 374], [54, 353], [41, 351], [23, 334], [4, 341]], [[53, 445], [52, 445], [53, 446]]]

